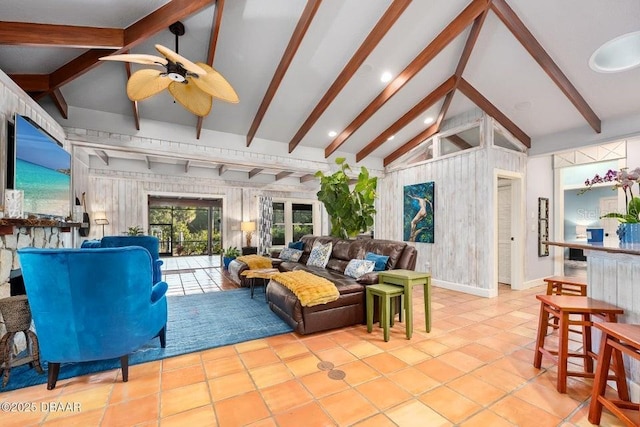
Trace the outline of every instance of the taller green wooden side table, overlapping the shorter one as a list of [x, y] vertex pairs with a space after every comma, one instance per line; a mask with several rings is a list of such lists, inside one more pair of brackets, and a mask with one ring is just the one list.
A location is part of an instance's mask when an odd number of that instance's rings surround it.
[[402, 286], [404, 288], [404, 309], [407, 338], [413, 334], [413, 287], [424, 288], [424, 321], [427, 332], [431, 332], [431, 274], [413, 270], [385, 270], [378, 273], [378, 283]]

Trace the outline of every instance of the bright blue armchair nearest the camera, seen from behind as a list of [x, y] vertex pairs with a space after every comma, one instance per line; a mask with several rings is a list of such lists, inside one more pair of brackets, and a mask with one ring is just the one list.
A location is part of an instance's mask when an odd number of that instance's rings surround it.
[[142, 247], [18, 250], [47, 388], [60, 363], [120, 358], [154, 337], [165, 347], [165, 282], [152, 282], [152, 260]]

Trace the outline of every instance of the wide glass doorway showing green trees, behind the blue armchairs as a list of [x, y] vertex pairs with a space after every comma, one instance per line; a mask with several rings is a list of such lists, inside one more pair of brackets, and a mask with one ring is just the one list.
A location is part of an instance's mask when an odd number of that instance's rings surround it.
[[222, 200], [149, 196], [149, 232], [161, 256], [217, 255], [222, 246]]

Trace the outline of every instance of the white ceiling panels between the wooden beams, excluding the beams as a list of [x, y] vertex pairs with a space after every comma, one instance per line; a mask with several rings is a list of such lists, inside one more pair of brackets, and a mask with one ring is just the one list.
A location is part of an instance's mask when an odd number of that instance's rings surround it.
[[[621, 73], [592, 71], [588, 60], [604, 42], [640, 30], [637, 0], [506, 0], [560, 70], [606, 126], [607, 121], [640, 112], [640, 68]], [[126, 28], [169, 1], [160, 0], [23, 0], [0, 3], [3, 21]], [[391, 0], [324, 0], [304, 36], [259, 126], [256, 137], [287, 143], [332, 85]], [[239, 104], [214, 101], [203, 128], [247, 135], [283, 52], [307, 2], [303, 0], [227, 0], [215, 51], [214, 68], [237, 91]], [[380, 75], [398, 75], [468, 4], [470, 0], [414, 0], [355, 72], [302, 139], [301, 147], [324, 149], [384, 89]], [[186, 34], [180, 54], [206, 62], [215, 5], [182, 19]], [[0, 25], [2, 25], [0, 23]], [[454, 74], [470, 27], [409, 80], [340, 147], [355, 154], [402, 117], [418, 101]], [[161, 31], [131, 49], [157, 54], [154, 44], [174, 48], [174, 36]], [[0, 69], [11, 74], [47, 74], [86, 49], [0, 44]], [[133, 70], [143, 68], [133, 65]], [[591, 129], [522, 44], [493, 11], [462, 74], [475, 89], [536, 140], [571, 129]], [[70, 107], [132, 115], [122, 63], [100, 63], [62, 86]], [[474, 108], [460, 92], [447, 113], [453, 117]], [[43, 106], [65, 126], [48, 100]], [[424, 117], [437, 117], [442, 100], [385, 142], [371, 156], [384, 158], [428, 127]], [[73, 109], [70, 110], [73, 113]], [[175, 104], [167, 92], [139, 103], [142, 119], [192, 126], [196, 117]], [[142, 123], [144, 127], [144, 123]], [[640, 123], [638, 125], [640, 129]], [[590, 130], [594, 132], [593, 130]], [[122, 133], [135, 132], [131, 129]], [[116, 153], [113, 153], [117, 155]], [[274, 153], [289, 155], [286, 150]], [[292, 155], [295, 155], [295, 150]]]

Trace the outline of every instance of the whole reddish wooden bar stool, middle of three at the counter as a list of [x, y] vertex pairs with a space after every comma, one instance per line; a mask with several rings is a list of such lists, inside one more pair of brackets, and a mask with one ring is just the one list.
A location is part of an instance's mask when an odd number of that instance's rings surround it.
[[[572, 295], [536, 295], [540, 301], [540, 318], [538, 323], [538, 337], [533, 366], [540, 369], [542, 356], [548, 356], [558, 365], [557, 389], [560, 393], [567, 391], [567, 376], [593, 378], [593, 361], [597, 355], [591, 349], [591, 316], [598, 316], [607, 322], [616, 322], [617, 316], [624, 310], [615, 305], [598, 301], [589, 297]], [[579, 315], [580, 319], [572, 319], [570, 315]], [[547, 327], [552, 316], [559, 319], [558, 324], [558, 351], [545, 348]], [[569, 352], [569, 327], [578, 325], [582, 327], [582, 353]], [[568, 371], [567, 360], [569, 357], [578, 357], [584, 360], [584, 372]], [[616, 365], [617, 366], [617, 365]]]

